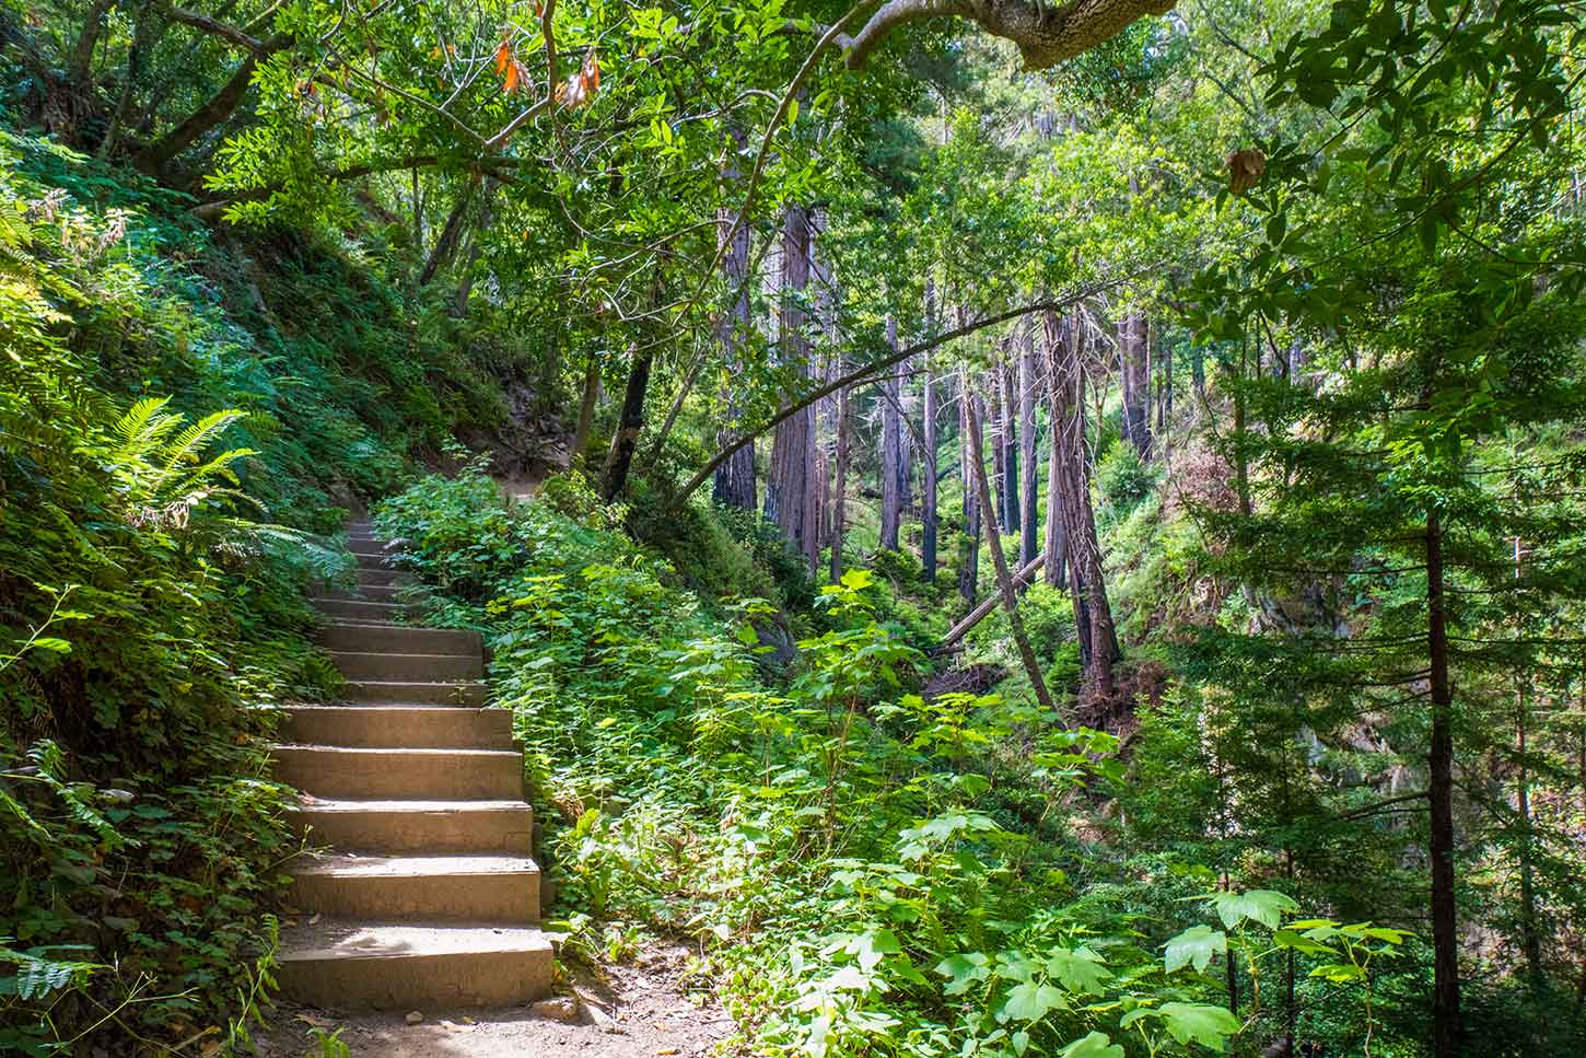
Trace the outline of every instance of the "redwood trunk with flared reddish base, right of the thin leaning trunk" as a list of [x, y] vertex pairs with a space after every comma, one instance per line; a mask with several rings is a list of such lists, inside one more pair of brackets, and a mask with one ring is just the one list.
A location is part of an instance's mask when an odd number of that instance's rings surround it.
[[[1107, 582], [1096, 538], [1090, 498], [1090, 463], [1085, 452], [1085, 374], [1080, 366], [1082, 330], [1063, 333], [1055, 314], [1047, 316], [1047, 371], [1052, 379], [1052, 428], [1058, 435], [1058, 482], [1067, 535], [1069, 584], [1075, 592], [1074, 622], [1085, 652], [1086, 693], [1110, 698], [1112, 666], [1120, 658], [1118, 636], [1107, 603]], [[1064, 338], [1067, 338], [1064, 341]]]

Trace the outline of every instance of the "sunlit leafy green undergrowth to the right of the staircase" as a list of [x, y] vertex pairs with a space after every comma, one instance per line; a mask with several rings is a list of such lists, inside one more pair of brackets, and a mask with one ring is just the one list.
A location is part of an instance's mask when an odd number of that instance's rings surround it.
[[766, 676], [766, 603], [699, 598], [623, 522], [512, 504], [477, 470], [376, 511], [435, 619], [487, 636], [568, 950], [688, 937], [755, 1053], [1250, 1050], [1270, 1023], [1220, 1004], [1213, 958], [1291, 950], [1353, 1006], [1397, 945], [1172, 857], [1115, 860], [1083, 820], [1123, 780], [1117, 741], [912, 693], [926, 658], [877, 619], [871, 573], [823, 587]]

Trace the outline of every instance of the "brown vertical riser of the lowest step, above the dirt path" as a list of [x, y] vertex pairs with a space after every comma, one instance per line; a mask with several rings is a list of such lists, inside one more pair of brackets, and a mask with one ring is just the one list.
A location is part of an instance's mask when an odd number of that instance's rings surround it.
[[276, 968], [276, 980], [292, 999], [374, 1010], [522, 1006], [550, 990], [550, 974], [549, 947], [542, 952], [284, 958]]

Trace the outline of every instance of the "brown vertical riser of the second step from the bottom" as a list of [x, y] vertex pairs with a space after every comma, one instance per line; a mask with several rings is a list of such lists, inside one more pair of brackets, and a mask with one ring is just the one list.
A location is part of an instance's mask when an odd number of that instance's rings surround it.
[[365, 922], [539, 922], [539, 872], [439, 877], [298, 874], [289, 903], [306, 912]]

